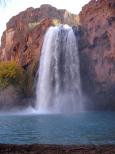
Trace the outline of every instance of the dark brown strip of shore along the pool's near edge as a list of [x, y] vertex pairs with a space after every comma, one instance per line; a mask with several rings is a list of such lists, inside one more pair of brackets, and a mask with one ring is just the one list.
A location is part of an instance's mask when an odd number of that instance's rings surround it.
[[8, 145], [0, 144], [0, 154], [115, 154], [115, 145]]

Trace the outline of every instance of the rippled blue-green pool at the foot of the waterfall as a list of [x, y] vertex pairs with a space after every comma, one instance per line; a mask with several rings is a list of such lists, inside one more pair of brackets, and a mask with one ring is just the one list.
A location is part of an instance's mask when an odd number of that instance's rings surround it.
[[0, 143], [115, 144], [115, 112], [0, 115]]

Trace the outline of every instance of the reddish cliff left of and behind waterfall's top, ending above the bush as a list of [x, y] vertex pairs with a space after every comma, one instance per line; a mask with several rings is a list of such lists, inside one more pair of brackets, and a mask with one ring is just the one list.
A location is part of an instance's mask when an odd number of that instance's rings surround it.
[[15, 60], [22, 66], [29, 65], [33, 59], [38, 60], [44, 34], [55, 22], [74, 25], [76, 16], [66, 10], [42, 5], [12, 17], [2, 36], [0, 60]]

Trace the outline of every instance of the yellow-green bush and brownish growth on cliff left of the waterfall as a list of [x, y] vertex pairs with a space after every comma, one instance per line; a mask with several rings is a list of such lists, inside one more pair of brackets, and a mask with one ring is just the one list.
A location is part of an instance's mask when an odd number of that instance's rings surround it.
[[26, 70], [15, 61], [0, 62], [0, 89], [6, 89], [9, 86], [18, 87], [23, 96], [33, 96], [36, 68], [36, 62], [32, 62]]

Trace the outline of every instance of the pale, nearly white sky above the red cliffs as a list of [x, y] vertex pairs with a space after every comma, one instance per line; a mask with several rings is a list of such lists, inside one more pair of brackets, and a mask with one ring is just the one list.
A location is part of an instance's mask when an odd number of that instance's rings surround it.
[[51, 4], [59, 9], [67, 9], [68, 11], [78, 14], [86, 3], [90, 0], [8, 0], [5, 8], [0, 7], [0, 37], [6, 28], [8, 20], [27, 9], [28, 7], [37, 8], [41, 4]]

